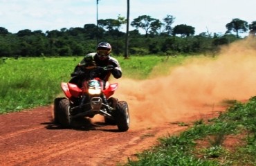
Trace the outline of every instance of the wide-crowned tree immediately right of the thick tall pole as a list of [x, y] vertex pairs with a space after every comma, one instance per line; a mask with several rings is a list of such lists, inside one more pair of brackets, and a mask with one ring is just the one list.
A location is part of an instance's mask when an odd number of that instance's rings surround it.
[[147, 37], [147, 34], [150, 29], [156, 30], [161, 27], [159, 24], [157, 24], [157, 22], [160, 22], [160, 21], [148, 15], [142, 15], [134, 19], [134, 21], [131, 21], [131, 26], [134, 26], [136, 29], [142, 28], [143, 30], [145, 30], [146, 32], [145, 37]]

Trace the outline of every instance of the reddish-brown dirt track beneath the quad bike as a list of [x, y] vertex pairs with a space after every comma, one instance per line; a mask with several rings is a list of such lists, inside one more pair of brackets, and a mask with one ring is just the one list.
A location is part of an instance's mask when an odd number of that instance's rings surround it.
[[157, 144], [157, 138], [173, 135], [187, 127], [178, 122], [212, 118], [216, 111], [118, 132], [104, 123], [80, 129], [60, 129], [52, 122], [52, 107], [39, 107], [0, 116], [1, 165], [117, 165], [136, 159], [139, 151]]

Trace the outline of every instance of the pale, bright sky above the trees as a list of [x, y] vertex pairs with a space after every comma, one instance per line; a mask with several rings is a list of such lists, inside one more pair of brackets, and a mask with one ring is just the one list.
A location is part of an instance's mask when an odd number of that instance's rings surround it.
[[[226, 24], [239, 18], [251, 24], [256, 21], [256, 0], [130, 0], [130, 23], [141, 15], [163, 22], [175, 17], [172, 27], [186, 24], [195, 34], [224, 34]], [[0, 0], [0, 27], [10, 33], [19, 30], [61, 30], [96, 24], [96, 0]], [[127, 17], [126, 0], [99, 0], [98, 19]], [[123, 26], [122, 31], [126, 31]], [[129, 30], [134, 30], [130, 26]], [[140, 33], [145, 34], [144, 30]], [[247, 34], [247, 33], [246, 33]], [[246, 35], [245, 34], [245, 35]]]

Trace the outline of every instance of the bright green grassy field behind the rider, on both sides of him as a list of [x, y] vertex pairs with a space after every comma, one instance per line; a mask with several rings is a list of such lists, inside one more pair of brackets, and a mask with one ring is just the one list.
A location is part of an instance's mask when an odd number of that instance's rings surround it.
[[[145, 79], [161, 64], [158, 74], [190, 57], [145, 56], [124, 59], [116, 57], [123, 77]], [[68, 82], [70, 74], [82, 57], [28, 57], [0, 59], [0, 113], [51, 104], [61, 93], [60, 82]]]

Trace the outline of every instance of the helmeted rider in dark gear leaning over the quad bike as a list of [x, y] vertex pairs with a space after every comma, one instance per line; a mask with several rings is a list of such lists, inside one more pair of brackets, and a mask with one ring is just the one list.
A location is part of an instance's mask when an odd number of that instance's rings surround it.
[[122, 77], [122, 70], [118, 63], [118, 60], [110, 56], [111, 45], [107, 42], [100, 42], [97, 46], [97, 53], [89, 53], [85, 55], [82, 61], [75, 66], [75, 70], [71, 73], [70, 83], [77, 84], [77, 86], [82, 86], [83, 74], [89, 68], [95, 66], [98, 67], [97, 77], [104, 82], [109, 80], [110, 75], [116, 79]]

